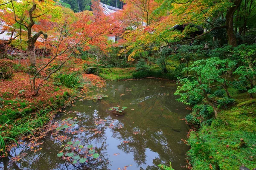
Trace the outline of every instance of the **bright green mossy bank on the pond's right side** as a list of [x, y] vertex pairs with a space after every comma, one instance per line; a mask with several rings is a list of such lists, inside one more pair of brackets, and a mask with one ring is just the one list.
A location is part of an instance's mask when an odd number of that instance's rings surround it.
[[[236, 106], [220, 111], [211, 125], [190, 133], [188, 156], [193, 170], [239, 170], [243, 164], [256, 168], [256, 100], [247, 96], [244, 101], [244, 97], [240, 95]], [[245, 147], [239, 146], [240, 139]]]

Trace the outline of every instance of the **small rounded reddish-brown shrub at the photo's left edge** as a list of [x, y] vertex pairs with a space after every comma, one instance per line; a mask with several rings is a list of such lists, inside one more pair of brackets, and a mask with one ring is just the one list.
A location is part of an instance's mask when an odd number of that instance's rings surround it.
[[0, 79], [9, 79], [13, 75], [14, 62], [8, 59], [0, 59]]

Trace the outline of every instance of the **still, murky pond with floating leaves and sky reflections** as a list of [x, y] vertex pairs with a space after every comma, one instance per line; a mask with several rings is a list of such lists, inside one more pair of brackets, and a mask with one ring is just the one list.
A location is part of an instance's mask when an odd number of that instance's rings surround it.
[[[94, 88], [85, 98], [96, 94], [108, 97], [98, 101], [79, 98], [56, 116], [55, 122], [74, 119], [65, 124], [71, 133], [63, 129], [58, 134], [49, 132], [37, 144], [26, 142], [13, 148], [9, 157], [1, 160], [0, 167], [6, 170], [158, 170], [158, 164], [169, 165], [171, 161], [175, 170], [185, 169], [182, 166], [186, 165], [185, 154], [189, 148], [181, 139], [186, 139], [189, 126], [180, 119], [189, 111], [175, 100], [176, 87], [175, 83], [160, 79], [107, 82], [105, 88]], [[127, 107], [125, 114], [110, 111], [116, 106]], [[99, 158], [90, 155], [81, 164], [57, 156], [69, 141], [79, 141], [82, 146], [92, 144], [89, 152], [95, 150]], [[17, 155], [15, 160], [10, 160]]]

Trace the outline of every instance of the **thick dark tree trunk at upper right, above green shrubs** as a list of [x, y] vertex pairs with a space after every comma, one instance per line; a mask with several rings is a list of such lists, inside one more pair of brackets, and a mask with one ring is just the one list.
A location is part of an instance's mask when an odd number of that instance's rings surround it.
[[227, 37], [228, 43], [232, 46], [237, 46], [236, 43], [236, 35], [234, 34], [233, 29], [233, 20], [234, 20], [234, 13], [237, 8], [240, 6], [242, 0], [230, 0], [231, 3], [234, 4], [233, 7], [229, 8], [226, 14], [226, 30], [227, 30]]

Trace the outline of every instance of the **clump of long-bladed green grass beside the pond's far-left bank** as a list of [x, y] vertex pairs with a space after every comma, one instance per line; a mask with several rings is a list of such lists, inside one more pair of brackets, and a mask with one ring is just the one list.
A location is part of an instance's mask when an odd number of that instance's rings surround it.
[[60, 73], [57, 76], [55, 76], [55, 79], [67, 88], [83, 88], [84, 86], [82, 76], [76, 73]]

